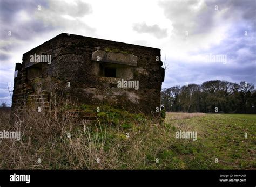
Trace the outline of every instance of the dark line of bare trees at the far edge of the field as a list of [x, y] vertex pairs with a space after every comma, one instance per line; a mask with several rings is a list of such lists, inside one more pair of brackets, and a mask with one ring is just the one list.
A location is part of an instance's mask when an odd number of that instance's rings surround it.
[[206, 81], [161, 91], [161, 104], [171, 112], [256, 113], [254, 85], [241, 81]]

